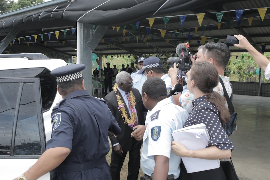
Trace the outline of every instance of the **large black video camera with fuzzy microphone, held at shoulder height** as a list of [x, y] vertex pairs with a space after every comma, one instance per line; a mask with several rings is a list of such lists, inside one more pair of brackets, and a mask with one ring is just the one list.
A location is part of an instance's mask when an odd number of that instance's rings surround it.
[[192, 56], [193, 59], [196, 59], [197, 56], [190, 54], [189, 49], [190, 44], [188, 42], [178, 44], [175, 51], [179, 57], [168, 58], [167, 64], [169, 67], [174, 67], [174, 63], [176, 63], [180, 70], [190, 70], [192, 65], [190, 56]]

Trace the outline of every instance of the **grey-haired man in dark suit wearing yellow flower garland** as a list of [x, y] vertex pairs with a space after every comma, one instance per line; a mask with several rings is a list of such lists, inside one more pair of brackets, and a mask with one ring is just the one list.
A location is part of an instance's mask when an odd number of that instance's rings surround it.
[[[116, 118], [122, 133], [116, 138], [109, 133], [112, 142], [110, 170], [112, 180], [120, 180], [120, 171], [129, 152], [127, 180], [137, 180], [140, 168], [141, 142], [131, 137], [133, 127], [144, 125], [143, 102], [137, 89], [132, 89], [132, 78], [126, 71], [116, 75], [113, 91], [105, 96], [112, 115]], [[135, 128], [134, 128], [135, 129]]]

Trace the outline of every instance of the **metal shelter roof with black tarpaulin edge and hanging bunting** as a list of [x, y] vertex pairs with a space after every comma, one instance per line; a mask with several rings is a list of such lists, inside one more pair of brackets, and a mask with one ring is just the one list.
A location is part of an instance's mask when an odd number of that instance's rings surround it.
[[[109, 1], [52, 0], [0, 14], [0, 41], [12, 29], [19, 31], [3, 53], [76, 55], [76, 19], [95, 28], [110, 26], [93, 50], [98, 55], [171, 54], [183, 42], [196, 52], [201, 44], [225, 42], [234, 34], [244, 35], [261, 52], [270, 51], [269, 0], [111, 0], [105, 6]], [[203, 16], [201, 24], [197, 16]]]

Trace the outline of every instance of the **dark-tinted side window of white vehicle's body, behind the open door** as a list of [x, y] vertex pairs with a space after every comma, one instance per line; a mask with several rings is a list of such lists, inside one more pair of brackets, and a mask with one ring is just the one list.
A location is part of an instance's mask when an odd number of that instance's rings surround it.
[[42, 110], [47, 111], [51, 108], [57, 93], [57, 82], [47, 68], [25, 68], [0, 70], [0, 77], [39, 77]]

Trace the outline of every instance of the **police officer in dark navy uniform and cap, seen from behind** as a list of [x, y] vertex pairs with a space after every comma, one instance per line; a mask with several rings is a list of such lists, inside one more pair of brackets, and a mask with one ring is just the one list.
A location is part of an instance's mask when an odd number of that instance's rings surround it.
[[107, 136], [108, 131], [118, 135], [121, 129], [105, 101], [85, 90], [84, 68], [72, 64], [51, 72], [63, 98], [51, 113], [52, 138], [39, 160], [18, 179], [35, 180], [51, 170], [54, 180], [112, 179], [105, 158], [110, 150]]

